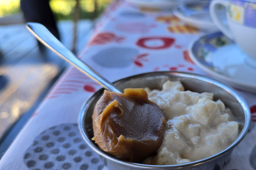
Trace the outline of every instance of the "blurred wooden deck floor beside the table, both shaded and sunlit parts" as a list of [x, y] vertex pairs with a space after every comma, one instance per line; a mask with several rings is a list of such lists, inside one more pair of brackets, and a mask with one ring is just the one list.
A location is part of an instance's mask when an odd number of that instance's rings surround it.
[[[79, 22], [77, 45], [83, 46], [82, 43], [88, 39], [85, 38], [85, 35], [91, 28], [90, 23], [88, 21]], [[62, 43], [71, 49], [72, 22], [60, 22], [58, 27]], [[1, 38], [3, 38], [3, 42]], [[45, 62], [45, 59], [39, 54], [36, 39], [25, 29], [24, 24], [0, 26], [1, 49], [5, 55], [2, 65], [0, 65], [0, 75], [8, 78], [8, 84], [0, 90], [0, 140], [4, 132], [33, 105], [59, 70], [58, 64], [50, 64], [49, 60]], [[54, 53], [50, 55], [54, 59], [55, 57], [59, 59]]]

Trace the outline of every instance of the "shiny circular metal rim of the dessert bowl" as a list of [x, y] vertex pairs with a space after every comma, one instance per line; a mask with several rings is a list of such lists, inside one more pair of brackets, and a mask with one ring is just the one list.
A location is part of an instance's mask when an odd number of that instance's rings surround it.
[[86, 143], [95, 151], [97, 152], [99, 155], [114, 161], [116, 163], [122, 164], [122, 165], [126, 165], [129, 167], [133, 167], [133, 168], [150, 168], [150, 169], [154, 169], [154, 168], [182, 168], [182, 167], [192, 167], [195, 165], [199, 165], [202, 163], [206, 163], [209, 161], [212, 161], [213, 159], [216, 159], [217, 157], [223, 155], [224, 153], [230, 151], [231, 149], [233, 149], [236, 145], [238, 145], [238, 143], [244, 138], [248, 128], [249, 128], [249, 124], [250, 124], [250, 110], [247, 106], [247, 103], [245, 102], [245, 100], [237, 93], [235, 92], [231, 87], [228, 87], [227, 85], [224, 85], [223, 83], [220, 83], [216, 80], [213, 80], [211, 78], [202, 76], [202, 75], [198, 75], [198, 74], [193, 74], [193, 73], [186, 73], [186, 72], [175, 72], [175, 71], [160, 71], [160, 72], [148, 72], [148, 73], [142, 73], [142, 74], [137, 74], [137, 75], [133, 75], [133, 76], [129, 76], [120, 80], [117, 80], [115, 82], [113, 82], [114, 84], [117, 82], [122, 82], [124, 80], [129, 80], [129, 79], [133, 79], [133, 78], [137, 78], [137, 77], [146, 77], [147, 75], [154, 75], [154, 76], [160, 76], [160, 75], [166, 75], [166, 74], [174, 74], [174, 75], [178, 75], [179, 77], [187, 77], [187, 78], [195, 78], [197, 80], [201, 80], [204, 82], [208, 82], [208, 83], [212, 83], [220, 88], [222, 88], [223, 90], [227, 91], [228, 93], [230, 93], [241, 105], [241, 107], [243, 108], [243, 112], [244, 112], [244, 124], [243, 124], [243, 128], [240, 132], [240, 134], [238, 135], [238, 137], [236, 138], [236, 140], [229, 145], [226, 149], [224, 149], [223, 151], [212, 155], [210, 157], [204, 158], [204, 159], [200, 159], [197, 161], [193, 161], [193, 162], [189, 162], [189, 163], [184, 163], [184, 164], [177, 164], [177, 165], [146, 165], [146, 164], [139, 164], [139, 163], [133, 163], [133, 162], [129, 162], [129, 161], [124, 161], [124, 160], [120, 160], [119, 158], [115, 157], [115, 156], [111, 156], [107, 153], [105, 153], [103, 150], [101, 150], [99, 147], [95, 147], [93, 144], [93, 141], [90, 139], [89, 135], [86, 134], [84, 132], [84, 117], [85, 117], [85, 112], [88, 110], [88, 106], [89, 103], [95, 98], [97, 97], [100, 92], [104, 89], [101, 88], [99, 89], [97, 92], [95, 92], [84, 104], [84, 106], [82, 107], [82, 110], [80, 112], [80, 116], [79, 116], [79, 129], [80, 132], [82, 133]]

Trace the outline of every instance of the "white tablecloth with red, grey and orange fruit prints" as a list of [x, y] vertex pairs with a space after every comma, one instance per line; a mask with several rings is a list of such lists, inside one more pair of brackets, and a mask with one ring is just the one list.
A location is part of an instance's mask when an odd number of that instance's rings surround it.
[[[205, 74], [190, 59], [188, 44], [202, 35], [171, 12], [112, 3], [80, 56], [110, 81], [151, 71]], [[106, 170], [84, 142], [78, 116], [100, 86], [70, 67], [57, 81], [0, 161], [1, 170]], [[256, 120], [256, 96], [239, 92]], [[252, 122], [224, 170], [256, 170], [256, 128]], [[214, 170], [219, 169], [213, 167]]]

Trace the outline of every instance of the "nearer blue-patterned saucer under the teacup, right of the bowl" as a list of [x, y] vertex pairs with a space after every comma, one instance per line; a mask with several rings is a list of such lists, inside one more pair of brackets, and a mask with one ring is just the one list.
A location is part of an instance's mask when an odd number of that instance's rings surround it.
[[256, 93], [256, 69], [246, 54], [221, 32], [205, 35], [189, 47], [191, 59], [206, 73], [232, 87]]

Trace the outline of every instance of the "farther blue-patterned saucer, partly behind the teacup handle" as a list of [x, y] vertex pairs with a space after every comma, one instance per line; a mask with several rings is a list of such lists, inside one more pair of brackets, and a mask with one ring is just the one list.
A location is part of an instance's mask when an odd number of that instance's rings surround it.
[[[210, 32], [218, 31], [218, 28], [211, 19], [209, 5], [210, 1], [208, 0], [185, 3], [176, 8], [173, 13], [191, 27]], [[219, 6], [218, 12], [218, 16], [225, 24], [227, 18], [225, 8]]]

